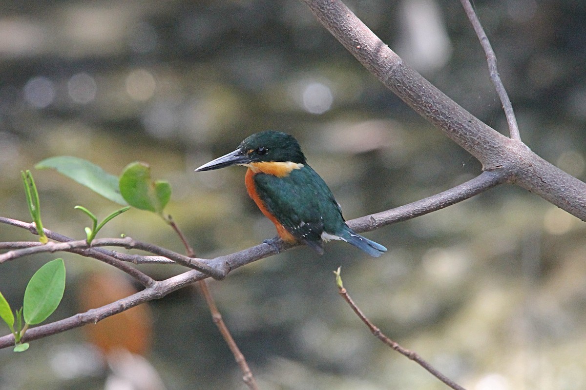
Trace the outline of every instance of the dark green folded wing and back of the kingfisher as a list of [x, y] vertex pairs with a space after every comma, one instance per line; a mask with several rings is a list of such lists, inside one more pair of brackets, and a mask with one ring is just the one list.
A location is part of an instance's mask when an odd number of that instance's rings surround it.
[[323, 179], [305, 165], [284, 178], [254, 175], [258, 196], [267, 210], [296, 239], [322, 252], [321, 234], [341, 232], [342, 210]]

